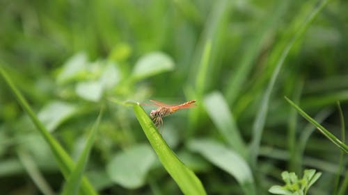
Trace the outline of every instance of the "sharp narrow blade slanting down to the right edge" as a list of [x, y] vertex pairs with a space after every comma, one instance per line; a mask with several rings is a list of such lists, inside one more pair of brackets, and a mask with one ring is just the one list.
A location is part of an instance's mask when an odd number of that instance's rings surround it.
[[301, 108], [299, 108], [298, 105], [296, 105], [294, 102], [292, 102], [290, 99], [288, 99], [285, 96], [285, 99], [287, 100], [287, 102], [290, 103], [290, 105], [292, 105], [292, 107], [294, 107], [307, 121], [310, 121], [311, 124], [313, 124], [317, 130], [319, 130], [320, 133], [322, 133], [323, 135], [325, 135], [325, 137], [327, 137], [331, 142], [333, 142], [333, 144], [335, 144], [336, 146], [338, 146], [338, 148], [340, 148], [342, 151], [345, 151], [345, 153], [348, 153], [348, 146], [341, 142], [340, 139], [338, 139], [337, 137], [335, 137], [335, 135], [333, 135], [332, 133], [329, 132], [329, 130], [326, 130], [326, 128], [324, 128], [322, 125], [318, 124], [317, 121], [315, 121], [315, 119], [313, 119], [312, 117], [310, 117], [309, 115], [307, 115], [306, 112], [304, 112]]

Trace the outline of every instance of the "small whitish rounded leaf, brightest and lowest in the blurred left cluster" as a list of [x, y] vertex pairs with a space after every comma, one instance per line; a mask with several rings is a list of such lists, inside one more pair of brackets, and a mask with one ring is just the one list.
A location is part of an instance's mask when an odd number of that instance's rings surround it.
[[88, 101], [100, 101], [102, 97], [102, 85], [97, 81], [87, 81], [77, 83], [75, 89], [77, 95]]

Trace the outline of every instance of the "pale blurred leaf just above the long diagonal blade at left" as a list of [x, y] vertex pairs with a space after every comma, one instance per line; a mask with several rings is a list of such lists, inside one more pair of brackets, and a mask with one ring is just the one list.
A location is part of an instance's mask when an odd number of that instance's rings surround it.
[[38, 118], [44, 126], [53, 132], [66, 119], [77, 111], [75, 105], [63, 101], [52, 101], [38, 113]]

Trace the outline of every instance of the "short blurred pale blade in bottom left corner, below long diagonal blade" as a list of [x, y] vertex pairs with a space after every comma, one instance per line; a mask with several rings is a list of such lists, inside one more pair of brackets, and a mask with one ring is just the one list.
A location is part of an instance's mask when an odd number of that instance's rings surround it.
[[54, 195], [52, 188], [49, 187], [49, 184], [46, 182], [45, 178], [40, 173], [40, 170], [36, 166], [31, 156], [22, 149], [19, 149], [17, 151], [17, 155], [19, 157], [20, 162], [22, 162], [24, 168], [29, 173], [29, 176], [31, 177], [35, 185], [38, 187], [38, 189], [40, 189], [40, 192], [42, 192], [42, 194], [45, 195]]

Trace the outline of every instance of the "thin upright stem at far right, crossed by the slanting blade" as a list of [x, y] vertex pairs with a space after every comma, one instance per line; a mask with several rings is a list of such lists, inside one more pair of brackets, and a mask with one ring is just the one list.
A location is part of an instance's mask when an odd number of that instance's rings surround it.
[[[345, 143], [345, 117], [343, 116], [343, 112], [342, 112], [342, 108], [340, 105], [340, 102], [337, 102], [337, 107], [338, 107], [338, 113], [340, 114], [340, 122], [341, 122], [341, 139], [342, 142]], [[337, 178], [335, 180], [335, 189], [333, 190], [333, 194], [338, 194], [338, 185], [340, 184], [340, 173], [343, 171], [345, 165], [344, 165], [344, 161], [345, 160], [345, 153], [343, 153], [343, 151], [341, 151], [340, 153], [340, 162], [338, 163], [338, 171], [337, 171]], [[342, 183], [342, 187], [344, 187], [343, 183]], [[346, 185], [347, 188], [347, 185]], [[340, 190], [341, 191], [341, 190]]]

